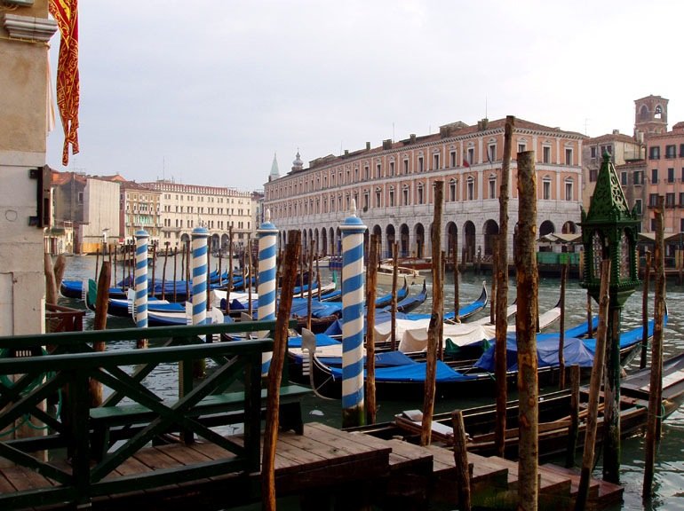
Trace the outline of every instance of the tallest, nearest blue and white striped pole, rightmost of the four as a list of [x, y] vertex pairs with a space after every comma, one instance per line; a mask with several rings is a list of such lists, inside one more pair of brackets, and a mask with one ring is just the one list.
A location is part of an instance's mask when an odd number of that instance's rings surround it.
[[[366, 226], [351, 215], [339, 226], [342, 232], [342, 425], [365, 423], [363, 399], [363, 233]], [[371, 327], [371, 326], [369, 326]]]

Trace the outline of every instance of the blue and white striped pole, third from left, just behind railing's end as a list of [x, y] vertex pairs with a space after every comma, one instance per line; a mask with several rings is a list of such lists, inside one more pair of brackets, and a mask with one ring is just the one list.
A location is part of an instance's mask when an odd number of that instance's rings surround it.
[[[265, 222], [258, 236], [258, 312], [257, 318], [275, 319], [275, 255], [278, 230], [271, 224], [271, 210], [266, 209]], [[261, 355], [261, 374], [268, 373], [273, 353]]]

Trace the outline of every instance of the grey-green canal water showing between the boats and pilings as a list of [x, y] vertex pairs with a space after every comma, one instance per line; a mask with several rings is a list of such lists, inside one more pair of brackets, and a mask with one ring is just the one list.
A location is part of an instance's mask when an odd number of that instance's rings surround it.
[[[65, 271], [65, 279], [84, 279], [95, 277], [95, 256], [92, 255], [74, 255], [68, 257], [67, 270]], [[225, 261], [224, 267], [225, 267]], [[217, 267], [217, 262], [211, 262], [211, 268]], [[161, 279], [162, 276], [162, 262], [156, 265], [156, 278]], [[171, 263], [167, 269], [167, 279], [171, 279]], [[121, 267], [117, 269], [117, 276], [122, 278], [123, 270]], [[430, 273], [425, 273], [427, 277], [428, 293], [432, 287]], [[331, 279], [330, 271], [322, 270], [322, 282], [328, 282]], [[482, 283], [491, 289], [491, 279], [487, 275], [474, 275], [471, 272], [465, 273], [460, 279], [460, 303], [470, 303], [475, 300], [481, 292]], [[546, 311], [552, 308], [560, 297], [560, 279], [546, 278], [539, 281], [539, 311]], [[418, 292], [418, 287], [414, 287], [414, 291]], [[388, 290], [384, 290], [388, 292]], [[509, 282], [509, 303], [512, 303], [516, 294], [515, 280], [512, 278]], [[432, 303], [429, 298], [418, 311], [429, 312]], [[641, 296], [642, 292], [637, 289], [632, 297], [627, 301], [624, 307], [622, 327], [623, 330], [630, 329], [641, 324]], [[649, 296], [649, 314], [653, 315], [653, 290]], [[82, 308], [82, 305], [74, 300], [61, 298], [60, 303], [70, 307]], [[451, 272], [448, 272], [444, 284], [444, 303], [449, 306], [454, 301], [454, 284]], [[668, 306], [668, 323], [664, 331], [664, 354], [665, 357], [678, 354], [684, 351], [684, 287], [676, 286], [673, 281], [667, 282], [667, 306]], [[577, 279], [569, 279], [566, 291], [566, 326], [573, 326], [586, 319], [586, 292], [579, 287]], [[594, 312], [596, 311], [596, 304], [593, 304]], [[489, 314], [489, 308], [483, 311], [481, 315]], [[90, 328], [92, 323], [92, 314], [89, 312], [86, 316], [85, 328]], [[132, 321], [124, 318], [108, 318], [107, 326], [110, 328], [123, 328], [133, 326]], [[558, 330], [558, 324], [550, 326], [547, 331], [553, 332]], [[122, 342], [113, 348], [128, 347], [129, 344]], [[639, 365], [638, 358], [632, 362], [632, 366], [628, 367], [634, 369]], [[166, 373], [159, 373], [155, 375], [153, 382], [155, 390], [168, 391], [174, 393], [177, 389], [176, 376], [171, 367]], [[541, 389], [543, 392], [544, 389]], [[483, 398], [469, 398], [463, 397], [459, 399], [441, 400], [435, 404], [435, 412], [450, 412], [457, 408], [466, 408], [473, 405], [481, 405], [483, 402], [493, 402], [494, 397]], [[378, 403], [378, 421], [388, 421], [394, 417], [395, 413], [400, 413], [402, 410], [420, 408], [422, 403], [416, 402], [395, 402], [386, 401]], [[307, 398], [304, 403], [304, 411], [306, 414], [305, 421], [319, 421], [329, 424], [330, 426], [341, 426], [341, 406], [338, 400], [323, 400], [319, 397]], [[648, 504], [644, 505], [641, 501], [641, 485], [643, 481], [643, 465], [644, 465], [644, 450], [642, 436], [634, 436], [625, 440], [622, 444], [622, 469], [621, 469], [621, 483], [624, 485], [624, 503], [621, 507], [615, 509], [647, 509], [647, 510], [670, 510], [670, 509], [684, 509], [684, 408], [673, 413], [663, 423], [663, 437], [658, 446], [656, 453], [656, 471], [654, 479], [655, 497]], [[562, 462], [562, 460], [559, 460]], [[577, 462], [581, 462], [581, 453], [577, 455]], [[594, 475], [600, 476], [601, 460], [597, 465]]]

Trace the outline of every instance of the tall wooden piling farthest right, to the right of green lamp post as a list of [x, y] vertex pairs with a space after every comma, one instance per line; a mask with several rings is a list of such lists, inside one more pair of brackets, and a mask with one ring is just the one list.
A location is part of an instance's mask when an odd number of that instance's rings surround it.
[[665, 312], [665, 268], [663, 233], [663, 196], [659, 197], [656, 214], [656, 247], [653, 253], [656, 268], [656, 293], [654, 298], [653, 341], [651, 342], [651, 379], [648, 394], [648, 421], [644, 463], [642, 498], [653, 495], [653, 471], [656, 463], [656, 444], [661, 434], [661, 410], [663, 400], [663, 323]]

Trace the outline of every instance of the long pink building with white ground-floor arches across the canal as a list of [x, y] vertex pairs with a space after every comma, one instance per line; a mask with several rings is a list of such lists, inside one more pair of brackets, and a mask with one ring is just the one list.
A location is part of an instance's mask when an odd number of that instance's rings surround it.
[[[398, 242], [401, 256], [431, 253], [433, 182], [445, 191], [444, 250], [457, 237], [465, 261], [489, 257], [499, 231], [499, 186], [504, 153], [505, 119], [481, 120], [469, 126], [454, 122], [439, 133], [410, 135], [379, 147], [309, 161], [299, 153], [290, 172], [271, 169], [264, 208], [281, 230], [302, 231], [302, 242], [321, 254], [339, 254], [338, 226], [352, 200], [369, 232], [380, 235], [381, 253]], [[537, 169], [537, 230], [578, 232], [582, 203], [582, 152], [585, 136], [534, 122], [515, 120], [509, 190], [509, 255], [513, 258], [513, 226], [518, 219], [516, 153], [534, 150]], [[366, 233], [368, 236], [368, 232]]]

